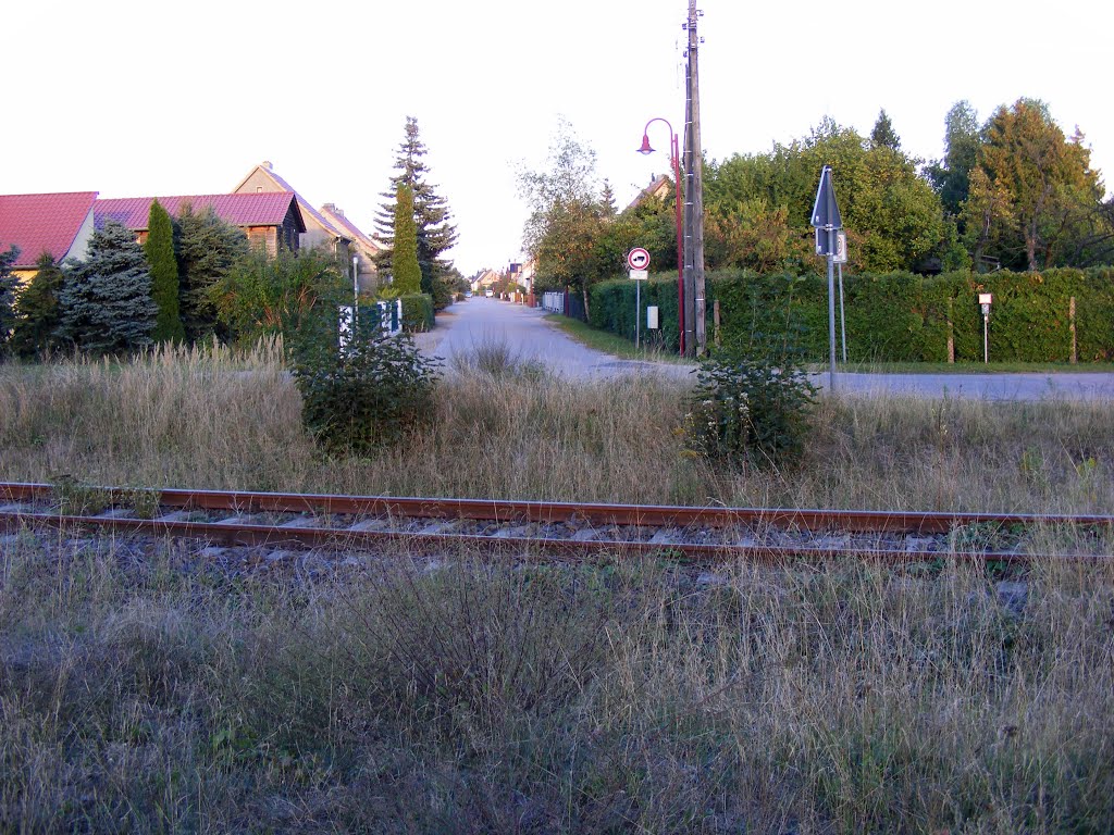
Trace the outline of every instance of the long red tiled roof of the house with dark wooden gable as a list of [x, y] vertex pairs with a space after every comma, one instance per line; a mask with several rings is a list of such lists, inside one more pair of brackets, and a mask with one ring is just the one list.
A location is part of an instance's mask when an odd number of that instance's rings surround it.
[[[134, 232], [146, 229], [150, 204], [155, 199], [155, 197], [120, 197], [97, 200], [92, 208], [97, 228], [101, 228], [106, 220], [116, 220]], [[234, 226], [281, 226], [293, 203], [299, 223], [297, 230], [305, 232], [305, 220], [296, 209], [297, 203], [292, 191], [202, 194], [157, 199], [174, 217], [180, 215], [187, 205], [193, 206], [194, 212], [204, 212], [212, 206], [217, 217]]]

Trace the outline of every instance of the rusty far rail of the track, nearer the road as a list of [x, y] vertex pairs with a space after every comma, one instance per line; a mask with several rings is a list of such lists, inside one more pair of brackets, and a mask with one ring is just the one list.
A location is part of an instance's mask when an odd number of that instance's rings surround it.
[[[1051, 515], [1027, 513], [970, 513], [939, 511], [817, 510], [798, 508], [692, 508], [672, 505], [599, 504], [577, 502], [501, 501], [496, 499], [438, 499], [324, 493], [268, 493], [238, 490], [102, 490], [126, 500], [136, 493], [158, 493], [167, 508], [252, 512], [368, 514], [424, 519], [470, 519], [497, 522], [555, 524], [583, 521], [687, 528], [725, 528], [734, 524], [771, 525], [799, 530], [840, 530], [852, 533], [947, 533], [958, 525], [1000, 527], [1071, 525], [1114, 527], [1114, 515]], [[51, 484], [2, 483], [0, 499], [42, 501], [55, 495]]]

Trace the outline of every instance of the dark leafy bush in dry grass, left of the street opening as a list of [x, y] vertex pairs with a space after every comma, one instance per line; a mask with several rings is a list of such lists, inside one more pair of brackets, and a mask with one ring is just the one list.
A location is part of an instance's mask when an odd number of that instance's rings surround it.
[[329, 451], [393, 443], [433, 413], [438, 363], [407, 334], [361, 328], [344, 347], [303, 352], [294, 365], [302, 422]]

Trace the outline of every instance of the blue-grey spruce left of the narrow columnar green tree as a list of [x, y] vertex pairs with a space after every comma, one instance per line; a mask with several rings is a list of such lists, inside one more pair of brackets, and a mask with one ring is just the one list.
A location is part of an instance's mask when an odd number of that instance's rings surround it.
[[158, 307], [135, 235], [115, 220], [95, 232], [85, 261], [66, 271], [59, 336], [90, 354], [125, 354], [152, 344]]

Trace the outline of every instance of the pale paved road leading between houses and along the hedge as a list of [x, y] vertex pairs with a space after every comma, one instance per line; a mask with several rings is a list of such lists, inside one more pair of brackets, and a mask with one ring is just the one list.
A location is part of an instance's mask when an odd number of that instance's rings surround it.
[[[585, 347], [545, 320], [546, 312], [494, 298], [473, 297], [438, 314], [432, 333], [419, 334], [428, 354], [467, 358], [485, 344], [506, 343], [517, 357], [537, 362], [571, 379], [613, 377], [657, 373], [691, 379], [691, 370], [670, 363], [619, 360]], [[812, 375], [821, 389], [828, 374]], [[1114, 373], [1078, 374], [844, 374], [836, 389], [860, 394], [907, 394], [970, 400], [1091, 400], [1114, 401]]]

